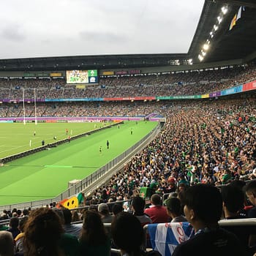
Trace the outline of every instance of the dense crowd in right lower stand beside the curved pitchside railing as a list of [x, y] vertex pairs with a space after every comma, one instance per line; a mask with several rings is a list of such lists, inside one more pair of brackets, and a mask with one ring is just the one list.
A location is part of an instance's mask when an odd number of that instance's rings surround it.
[[227, 184], [255, 178], [255, 99], [189, 102], [162, 109], [167, 123], [147, 148], [110, 183], [94, 192], [108, 200], [126, 198], [140, 187], [160, 194], [179, 185]]

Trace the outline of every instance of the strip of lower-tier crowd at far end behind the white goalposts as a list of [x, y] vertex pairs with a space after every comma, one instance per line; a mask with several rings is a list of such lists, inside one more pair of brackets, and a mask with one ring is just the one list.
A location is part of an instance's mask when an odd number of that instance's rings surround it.
[[[36, 116], [145, 116], [175, 105], [170, 102], [46, 102], [37, 103]], [[0, 117], [23, 117], [23, 104], [0, 105]], [[25, 105], [25, 116], [35, 116], [34, 104]]]

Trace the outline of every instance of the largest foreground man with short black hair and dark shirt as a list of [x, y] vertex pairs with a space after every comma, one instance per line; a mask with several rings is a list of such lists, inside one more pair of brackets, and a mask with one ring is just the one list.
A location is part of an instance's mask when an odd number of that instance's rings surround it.
[[244, 255], [238, 238], [218, 226], [222, 196], [216, 187], [208, 184], [189, 187], [184, 199], [184, 212], [195, 229], [195, 236], [179, 244], [173, 256]]

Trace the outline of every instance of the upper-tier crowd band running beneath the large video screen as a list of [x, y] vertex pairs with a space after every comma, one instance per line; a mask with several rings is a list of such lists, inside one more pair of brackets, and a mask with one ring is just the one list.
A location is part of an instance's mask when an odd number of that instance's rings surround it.
[[100, 78], [95, 86], [83, 89], [66, 84], [62, 79], [0, 80], [0, 99], [108, 98], [156, 97], [206, 94], [255, 80], [256, 69], [233, 67], [227, 69], [178, 72], [165, 75], [138, 75], [133, 77]]

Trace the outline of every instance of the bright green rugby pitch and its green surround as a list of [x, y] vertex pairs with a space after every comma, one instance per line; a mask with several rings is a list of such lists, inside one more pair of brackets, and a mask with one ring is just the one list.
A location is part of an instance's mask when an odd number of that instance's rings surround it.
[[[66, 129], [78, 135], [100, 123], [0, 124], [0, 158], [32, 147], [67, 138]], [[68, 181], [83, 179], [123, 153], [151, 132], [157, 122], [126, 121], [91, 135], [71, 140], [56, 148], [39, 151], [0, 167], [0, 206], [56, 197], [67, 189]], [[131, 129], [133, 134], [131, 135]], [[34, 131], [36, 135], [34, 136]], [[110, 148], [106, 142], [109, 140]], [[102, 146], [102, 153], [99, 147]]]

